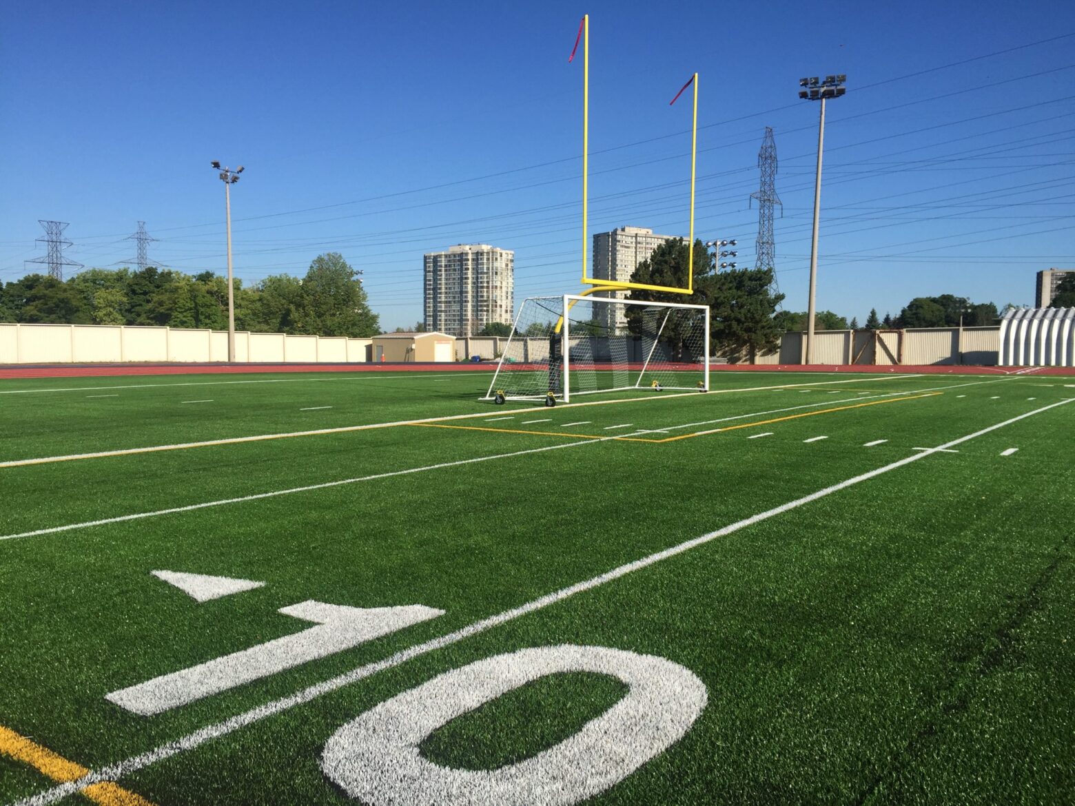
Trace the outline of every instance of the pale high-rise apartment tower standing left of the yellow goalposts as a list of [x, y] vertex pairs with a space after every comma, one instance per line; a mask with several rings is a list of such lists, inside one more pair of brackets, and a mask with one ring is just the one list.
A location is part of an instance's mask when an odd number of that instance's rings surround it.
[[474, 335], [491, 322], [511, 322], [515, 253], [488, 244], [459, 244], [426, 255], [427, 330]]

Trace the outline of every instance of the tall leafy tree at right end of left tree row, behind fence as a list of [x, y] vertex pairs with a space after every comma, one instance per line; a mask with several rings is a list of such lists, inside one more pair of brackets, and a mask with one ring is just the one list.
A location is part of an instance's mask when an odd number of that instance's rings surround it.
[[379, 317], [370, 310], [358, 272], [336, 251], [318, 255], [302, 280], [311, 314], [307, 332], [366, 337], [379, 332]]

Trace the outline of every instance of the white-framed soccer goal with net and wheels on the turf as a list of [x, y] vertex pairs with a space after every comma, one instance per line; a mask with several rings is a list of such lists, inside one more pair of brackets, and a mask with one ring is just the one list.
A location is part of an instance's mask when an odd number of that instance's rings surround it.
[[483, 400], [708, 388], [706, 305], [565, 294], [522, 302]]

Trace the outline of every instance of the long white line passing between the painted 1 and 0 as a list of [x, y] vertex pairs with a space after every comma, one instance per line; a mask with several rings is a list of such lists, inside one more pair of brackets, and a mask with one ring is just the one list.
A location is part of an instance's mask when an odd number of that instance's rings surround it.
[[[619, 567], [613, 568], [612, 571], [608, 571], [604, 574], [592, 577], [585, 581], [576, 582], [575, 585], [571, 585], [567, 588], [561, 588], [558, 591], [548, 593], [544, 596], [527, 602], [526, 604], [520, 605], [518, 607], [514, 607], [510, 610], [504, 610], [503, 613], [499, 613], [496, 616], [489, 616], [488, 618], [481, 619], [464, 628], [456, 630], [455, 632], [450, 632], [438, 638], [431, 638], [430, 641], [426, 641], [422, 642], [421, 644], [417, 644], [407, 649], [403, 649], [388, 658], [385, 658], [384, 660], [375, 661], [373, 663], [367, 663], [362, 666], [353, 668], [350, 672], [345, 672], [344, 674], [336, 675], [335, 677], [331, 677], [328, 680], [324, 680], [322, 682], [315, 683], [314, 686], [307, 686], [306, 688], [301, 689], [300, 691], [289, 696], [281, 697], [278, 700], [273, 700], [272, 702], [266, 703], [264, 705], [260, 705], [243, 714], [239, 714], [234, 717], [231, 717], [230, 719], [226, 719], [223, 722], [217, 722], [216, 724], [211, 724], [200, 730], [197, 730], [192, 733], [188, 733], [186, 736], [183, 736], [180, 739], [166, 743], [147, 752], [141, 753], [139, 755], [133, 755], [125, 761], [112, 764], [106, 767], [102, 767], [96, 772], [90, 772], [87, 775], [84, 775], [82, 778], [78, 778], [77, 780], [69, 781], [67, 783], [61, 783], [57, 787], [53, 787], [52, 789], [44, 790], [43, 792], [40, 792], [37, 795], [16, 802], [15, 804], [13, 804], [13, 806], [45, 806], [45, 804], [56, 803], [57, 801], [67, 797], [70, 794], [74, 794], [78, 790], [91, 783], [97, 783], [100, 781], [119, 780], [124, 776], [130, 775], [133, 772], [147, 767], [152, 764], [156, 764], [157, 762], [163, 761], [164, 759], [172, 758], [173, 755], [178, 755], [180, 753], [185, 752], [187, 750], [192, 750], [194, 748], [199, 747], [200, 745], [203, 745], [206, 742], [210, 742], [211, 739], [219, 738], [220, 736], [226, 736], [227, 734], [232, 733], [239, 730], [240, 728], [253, 724], [254, 722], [258, 722], [262, 719], [266, 719], [267, 717], [275, 716], [285, 710], [289, 710], [290, 708], [293, 708], [298, 705], [303, 705], [305, 703], [309, 703], [313, 700], [316, 700], [319, 696], [322, 696], [324, 694], [331, 693], [333, 691], [336, 691], [338, 689], [343, 688], [344, 686], [349, 686], [353, 682], [357, 682], [358, 680], [362, 680], [367, 677], [370, 677], [376, 674], [377, 672], [395, 668], [396, 666], [399, 666], [414, 658], [427, 654], [428, 652], [432, 652], [436, 649], [442, 649], [446, 646], [450, 646], [452, 644], [457, 644], [460, 641], [463, 641], [464, 638], [469, 638], [472, 635], [477, 635], [478, 633], [491, 630], [494, 627], [499, 627], [500, 624], [503, 624], [507, 621], [517, 619], [520, 616], [526, 616], [536, 610], [548, 607], [551, 604], [562, 602], [567, 599], [570, 599], [571, 596], [574, 596], [576, 593], [583, 593], [585, 591], [592, 590], [593, 588], [605, 585], [606, 582], [611, 582], [615, 579], [619, 579], [620, 577], [627, 576], [628, 574], [631, 574], [635, 571], [641, 571], [642, 568], [655, 565], [656, 563], [659, 563], [662, 560], [666, 560], [671, 557], [675, 557], [686, 551], [690, 551], [692, 548], [702, 546], [718, 537], [726, 537], [730, 534], [733, 534], [734, 532], [740, 531], [741, 529], [745, 529], [756, 523], [760, 523], [763, 520], [769, 520], [770, 518], [773, 518], [777, 515], [783, 515], [784, 513], [797, 509], [800, 506], [803, 506], [804, 504], [809, 504], [814, 501], [817, 501], [818, 499], [831, 495], [834, 492], [838, 492], [841, 490], [847, 489], [848, 487], [852, 487], [857, 484], [861, 484], [862, 481], [866, 481], [871, 478], [875, 478], [876, 476], [880, 476], [885, 473], [893, 471], [898, 467], [902, 467], [905, 464], [911, 464], [912, 462], [924, 459], [928, 456], [932, 456], [937, 450], [947, 450], [948, 448], [951, 448], [955, 445], [961, 445], [964, 442], [977, 438], [978, 436], [988, 434], [991, 431], [1004, 428], [1005, 426], [1010, 426], [1012, 423], [1018, 422], [1019, 420], [1023, 420], [1028, 417], [1033, 417], [1034, 415], [1042, 414], [1043, 412], [1047, 412], [1050, 408], [1056, 408], [1057, 406], [1062, 406], [1073, 401], [1075, 401], [1075, 398], [1069, 398], [1060, 401], [1059, 403], [1052, 403], [1050, 405], [1043, 406], [1042, 408], [1036, 408], [1033, 412], [1027, 412], [1026, 414], [1020, 414], [1016, 417], [1012, 417], [1010, 419], [1004, 420], [1003, 422], [998, 422], [993, 426], [988, 426], [979, 431], [975, 431], [972, 434], [968, 434], [966, 436], [961, 436], [957, 440], [952, 440], [951, 442], [947, 442], [944, 445], [940, 445], [936, 448], [933, 448], [930, 452], [915, 454], [904, 459], [900, 459], [895, 462], [891, 462], [890, 464], [886, 464], [882, 467], [877, 467], [876, 470], [872, 470], [866, 473], [862, 473], [861, 475], [854, 476], [843, 481], [838, 481], [837, 484], [817, 490], [816, 492], [812, 492], [808, 495], [803, 495], [802, 498], [796, 499], [794, 501], [789, 501], [786, 504], [780, 504], [779, 506], [775, 506], [772, 509], [766, 509], [763, 513], [758, 513], [757, 515], [751, 515], [749, 518], [737, 520], [734, 523], [731, 523], [721, 529], [717, 529], [713, 532], [703, 534], [700, 537], [694, 537], [692, 539], [685, 541], [684, 543], [664, 549], [663, 551], [657, 551], [655, 553], [649, 555], [648, 557], [643, 557], [640, 560], [635, 560], [634, 562], [629, 562], [625, 565], [620, 565]], [[572, 443], [572, 444], [577, 444], [577, 443]]]

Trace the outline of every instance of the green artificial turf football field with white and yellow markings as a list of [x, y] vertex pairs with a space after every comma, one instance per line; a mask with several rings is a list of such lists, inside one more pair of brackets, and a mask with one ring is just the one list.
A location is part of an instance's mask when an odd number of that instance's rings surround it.
[[1071, 803], [1075, 377], [0, 380], [0, 803]]

